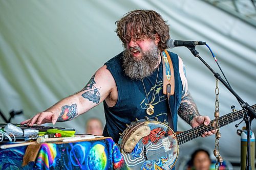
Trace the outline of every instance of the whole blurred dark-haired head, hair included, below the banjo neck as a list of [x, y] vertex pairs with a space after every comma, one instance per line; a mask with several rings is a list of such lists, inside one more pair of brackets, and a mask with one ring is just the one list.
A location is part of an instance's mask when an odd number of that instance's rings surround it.
[[191, 163], [195, 170], [208, 170], [210, 168], [210, 155], [206, 150], [198, 149], [191, 155]]

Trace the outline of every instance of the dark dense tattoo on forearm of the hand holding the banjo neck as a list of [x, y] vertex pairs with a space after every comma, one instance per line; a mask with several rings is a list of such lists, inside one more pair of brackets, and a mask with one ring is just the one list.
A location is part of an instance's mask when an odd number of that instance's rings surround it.
[[195, 116], [200, 116], [196, 103], [193, 101], [191, 95], [188, 93], [187, 96], [185, 96], [180, 104], [180, 107], [178, 109], [178, 114], [183, 118], [189, 125], [191, 120]]

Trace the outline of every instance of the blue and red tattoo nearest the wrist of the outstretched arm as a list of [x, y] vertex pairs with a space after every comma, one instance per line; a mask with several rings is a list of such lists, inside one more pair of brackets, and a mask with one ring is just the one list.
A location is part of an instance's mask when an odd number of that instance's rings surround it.
[[61, 107], [61, 113], [57, 119], [57, 122], [64, 122], [71, 120], [78, 115], [76, 103], [71, 106], [65, 105]]

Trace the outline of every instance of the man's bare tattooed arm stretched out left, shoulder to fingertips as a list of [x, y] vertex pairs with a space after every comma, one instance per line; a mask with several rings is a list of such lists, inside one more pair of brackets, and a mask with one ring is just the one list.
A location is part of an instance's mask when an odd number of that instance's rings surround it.
[[[111, 96], [116, 89], [115, 80], [106, 66], [99, 68], [87, 85], [77, 93], [62, 99], [49, 109], [34, 115], [20, 124], [44, 124], [71, 120], [87, 112]], [[114, 99], [114, 98], [113, 98]]]

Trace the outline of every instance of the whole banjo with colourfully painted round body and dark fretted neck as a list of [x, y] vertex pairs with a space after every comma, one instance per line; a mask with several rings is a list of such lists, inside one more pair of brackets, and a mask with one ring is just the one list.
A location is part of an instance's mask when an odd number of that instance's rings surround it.
[[[256, 105], [251, 106], [255, 111]], [[243, 118], [245, 112], [239, 110], [219, 117], [219, 127]], [[200, 125], [190, 130], [175, 133], [165, 123], [154, 119], [136, 119], [119, 138], [118, 145], [129, 169], [172, 169], [179, 154], [179, 145], [200, 137], [214, 129], [215, 120], [208, 126]]]

